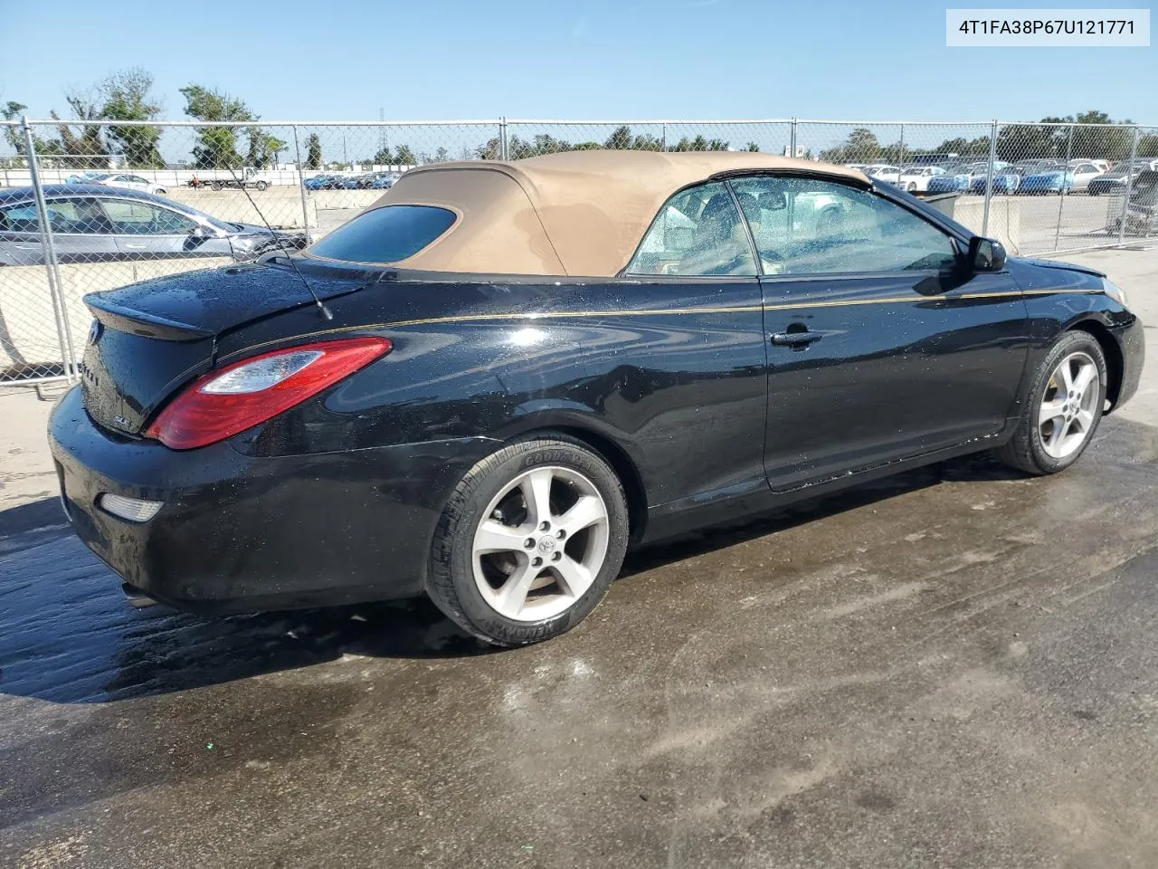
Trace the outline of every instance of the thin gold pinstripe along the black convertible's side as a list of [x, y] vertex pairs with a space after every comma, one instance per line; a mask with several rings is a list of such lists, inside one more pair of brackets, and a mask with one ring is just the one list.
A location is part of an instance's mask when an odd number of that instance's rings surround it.
[[[360, 331], [364, 329], [401, 329], [406, 326], [432, 326], [435, 323], [475, 323], [483, 321], [505, 321], [505, 320], [566, 320], [566, 319], [586, 319], [596, 316], [675, 316], [682, 314], [739, 314], [739, 313], [750, 313], [756, 311], [799, 311], [800, 308], [840, 308], [849, 307], [852, 305], [903, 305], [921, 301], [954, 301], [958, 299], [1003, 299], [1024, 295], [1054, 295], [1054, 294], [1077, 294], [1077, 295], [1093, 295], [1100, 293], [1100, 290], [1011, 290], [999, 293], [959, 293], [957, 295], [940, 295], [940, 297], [926, 297], [926, 295], [893, 295], [885, 297], [880, 299], [840, 299], [836, 301], [800, 301], [791, 302], [786, 305], [739, 305], [733, 307], [701, 307], [701, 308], [639, 308], [636, 311], [564, 311], [564, 312], [548, 312], [548, 313], [536, 313], [532, 312], [528, 314], [459, 314], [453, 316], [432, 316], [423, 317], [419, 320], [396, 320], [389, 323], [366, 323], [361, 326], [339, 326], [334, 329], [323, 329], [321, 331], [310, 333], [309, 335], [301, 335], [296, 337], [302, 338], [317, 338], [324, 335], [339, 335], [346, 331]], [[261, 344], [252, 344], [244, 350], [239, 350], [237, 353], [251, 352], [263, 346], [270, 346], [271, 344], [280, 344], [286, 338], [278, 338], [277, 341], [266, 341]], [[232, 358], [237, 353], [230, 353], [227, 357]]]

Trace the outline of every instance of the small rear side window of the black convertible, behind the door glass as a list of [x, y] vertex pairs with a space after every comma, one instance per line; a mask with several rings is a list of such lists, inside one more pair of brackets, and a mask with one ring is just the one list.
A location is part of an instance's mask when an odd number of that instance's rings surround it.
[[681, 190], [659, 210], [629, 275], [752, 275], [756, 263], [735, 200], [723, 182]]

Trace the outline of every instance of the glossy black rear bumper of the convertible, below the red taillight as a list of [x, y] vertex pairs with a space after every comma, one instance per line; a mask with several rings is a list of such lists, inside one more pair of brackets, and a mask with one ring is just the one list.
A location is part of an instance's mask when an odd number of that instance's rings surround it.
[[[244, 612], [423, 593], [446, 497], [482, 438], [279, 458], [228, 443], [177, 452], [97, 428], [69, 392], [49, 441], [80, 539], [126, 583], [179, 609]], [[146, 523], [103, 492], [163, 502]]]

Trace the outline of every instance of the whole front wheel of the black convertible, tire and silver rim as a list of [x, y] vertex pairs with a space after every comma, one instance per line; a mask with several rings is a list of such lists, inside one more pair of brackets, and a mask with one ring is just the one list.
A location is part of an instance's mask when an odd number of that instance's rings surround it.
[[[1097, 382], [1089, 381], [1084, 389], [1076, 382], [1076, 388], [1067, 393], [1063, 362], [1071, 380], [1079, 380], [1089, 365]], [[995, 457], [1035, 476], [1064, 470], [1093, 440], [1107, 385], [1106, 356], [1097, 339], [1085, 331], [1063, 333], [1034, 374], [1013, 437], [995, 451]], [[1050, 416], [1054, 409], [1058, 412]]]

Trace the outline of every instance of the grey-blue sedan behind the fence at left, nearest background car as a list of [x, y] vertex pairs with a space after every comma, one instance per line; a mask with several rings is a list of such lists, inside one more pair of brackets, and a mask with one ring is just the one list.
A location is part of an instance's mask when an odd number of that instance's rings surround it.
[[[100, 184], [47, 184], [44, 199], [63, 263], [228, 256], [237, 262], [309, 243], [301, 231], [218, 220], [182, 203]], [[0, 190], [0, 266], [41, 265], [44, 246], [30, 187]]]

